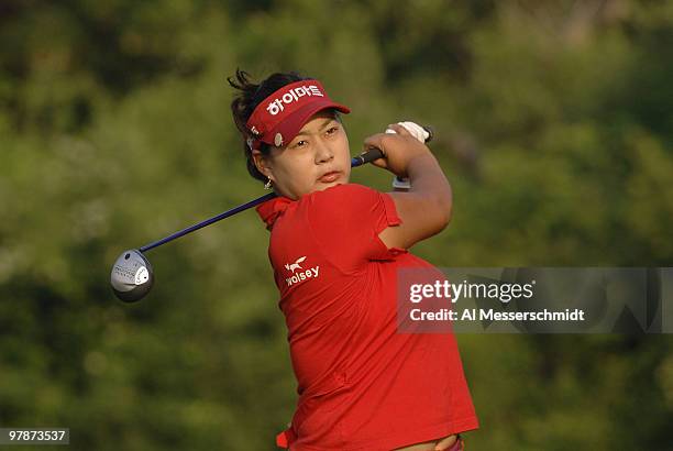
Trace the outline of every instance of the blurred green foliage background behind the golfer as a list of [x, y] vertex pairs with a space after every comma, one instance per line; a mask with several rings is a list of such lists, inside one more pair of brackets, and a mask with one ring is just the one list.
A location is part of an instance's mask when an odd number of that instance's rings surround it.
[[[323, 80], [353, 154], [434, 125], [454, 219], [416, 253], [439, 266], [671, 265], [671, 2], [4, 0], [0, 43], [3, 427], [275, 449], [295, 381], [254, 212], [152, 253], [137, 305], [108, 285], [125, 248], [262, 194], [229, 113], [239, 66]], [[670, 336], [459, 342], [471, 449], [673, 449]]]

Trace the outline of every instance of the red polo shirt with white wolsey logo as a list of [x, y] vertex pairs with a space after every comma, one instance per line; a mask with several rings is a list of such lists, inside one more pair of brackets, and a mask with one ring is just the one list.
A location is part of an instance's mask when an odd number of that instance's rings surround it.
[[362, 185], [257, 211], [280, 292], [299, 399], [291, 450], [391, 450], [478, 427], [452, 333], [398, 333], [397, 270], [432, 267], [378, 233], [401, 222]]

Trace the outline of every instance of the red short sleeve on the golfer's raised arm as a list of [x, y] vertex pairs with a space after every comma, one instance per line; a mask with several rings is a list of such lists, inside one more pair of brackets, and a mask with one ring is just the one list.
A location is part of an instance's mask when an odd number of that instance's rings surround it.
[[372, 260], [391, 260], [400, 249], [388, 249], [378, 234], [399, 226], [390, 195], [356, 185], [336, 185], [310, 199], [308, 219], [326, 256], [342, 271], [356, 271]]

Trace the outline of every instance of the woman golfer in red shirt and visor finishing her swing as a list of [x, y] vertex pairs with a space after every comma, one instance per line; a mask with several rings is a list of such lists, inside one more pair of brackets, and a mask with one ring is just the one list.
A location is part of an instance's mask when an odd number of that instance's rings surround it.
[[444, 229], [451, 188], [429, 148], [400, 125], [365, 148], [408, 177], [408, 193], [349, 183], [351, 154], [322, 85], [295, 73], [229, 82], [247, 169], [278, 195], [257, 207], [271, 231], [299, 398], [277, 444], [294, 451], [461, 450], [477, 417], [452, 333], [398, 333], [399, 268], [432, 267], [407, 250]]

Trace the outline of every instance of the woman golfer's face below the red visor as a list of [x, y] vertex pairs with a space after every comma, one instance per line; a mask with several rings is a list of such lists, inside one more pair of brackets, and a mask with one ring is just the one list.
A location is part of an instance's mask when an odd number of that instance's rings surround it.
[[351, 152], [345, 130], [331, 111], [320, 111], [286, 146], [271, 154], [253, 152], [255, 164], [269, 177], [280, 196], [301, 196], [349, 183]]

